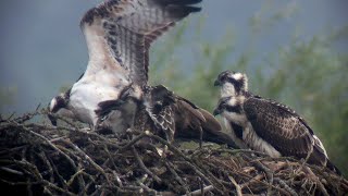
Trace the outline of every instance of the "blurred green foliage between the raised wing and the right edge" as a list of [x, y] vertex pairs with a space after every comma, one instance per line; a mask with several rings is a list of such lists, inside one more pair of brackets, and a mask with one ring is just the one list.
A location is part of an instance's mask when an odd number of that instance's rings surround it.
[[[275, 14], [270, 17], [271, 26], [275, 19], [279, 22], [282, 16], [288, 16]], [[250, 28], [260, 30], [256, 23], [252, 21]], [[192, 47], [184, 40], [186, 26], [186, 23], [181, 25], [169, 35], [169, 39], [154, 47], [150, 72], [152, 84], [164, 84], [212, 111], [219, 97], [217, 89], [213, 87], [217, 74], [224, 70], [247, 72], [250, 90], [295, 109], [324, 143], [331, 160], [348, 174], [348, 134], [345, 133], [348, 125], [348, 53], [335, 49], [338, 41], [348, 39], [347, 27], [309, 40], [301, 40], [295, 35], [288, 45], [256, 65], [251, 60], [258, 51], [244, 51], [237, 59], [228, 58], [236, 52], [233, 34], [227, 33], [215, 42], [207, 42], [199, 39], [201, 28], [198, 26], [194, 35], [199, 49], [192, 53], [195, 61], [188, 66], [175, 56], [176, 50]], [[256, 38], [250, 39], [257, 39], [258, 30], [254, 32]]]

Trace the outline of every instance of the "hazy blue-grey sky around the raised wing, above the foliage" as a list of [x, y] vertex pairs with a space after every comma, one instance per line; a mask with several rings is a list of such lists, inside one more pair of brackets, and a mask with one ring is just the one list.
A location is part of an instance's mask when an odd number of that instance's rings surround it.
[[[85, 71], [88, 57], [78, 24], [97, 2], [100, 1], [1, 0], [0, 89], [16, 89], [13, 105], [1, 112], [29, 111], [39, 102], [46, 106], [60, 87], [73, 84]], [[204, 41], [215, 41], [232, 29], [237, 37], [236, 53], [247, 50], [250, 42], [251, 16], [266, 19], [279, 10], [288, 13], [253, 44], [257, 60], [289, 42], [295, 33], [307, 39], [348, 25], [347, 0], [203, 0], [202, 8], [200, 14], [189, 19], [187, 35], [192, 36], [192, 26], [204, 17]], [[194, 41], [187, 41], [195, 47]], [[189, 52], [184, 58], [187, 62], [192, 60]]]

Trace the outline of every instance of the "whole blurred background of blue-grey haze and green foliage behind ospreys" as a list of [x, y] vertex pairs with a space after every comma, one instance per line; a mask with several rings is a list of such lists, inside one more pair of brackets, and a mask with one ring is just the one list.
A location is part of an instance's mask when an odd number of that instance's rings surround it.
[[[97, 0], [0, 2], [0, 112], [24, 113], [71, 86], [88, 56], [79, 20]], [[151, 83], [212, 110], [213, 79], [246, 72], [250, 89], [296, 109], [347, 172], [348, 1], [203, 0], [151, 48]]]

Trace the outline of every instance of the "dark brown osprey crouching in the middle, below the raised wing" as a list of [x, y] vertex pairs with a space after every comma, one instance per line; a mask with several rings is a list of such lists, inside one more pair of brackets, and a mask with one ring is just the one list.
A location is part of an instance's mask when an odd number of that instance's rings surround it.
[[133, 128], [136, 131], [152, 131], [170, 143], [174, 138], [188, 138], [236, 147], [232, 137], [222, 132], [212, 114], [163, 85], [145, 87], [141, 99], [134, 97], [133, 90], [132, 86], [124, 90], [122, 98], [113, 102], [113, 106], [105, 107], [105, 111], [124, 110], [126, 105], [135, 102], [137, 110]]

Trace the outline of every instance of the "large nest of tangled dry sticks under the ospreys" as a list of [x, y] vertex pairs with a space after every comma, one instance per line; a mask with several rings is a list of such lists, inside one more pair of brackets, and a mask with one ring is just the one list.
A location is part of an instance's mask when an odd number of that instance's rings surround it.
[[[0, 185], [21, 195], [345, 195], [348, 182], [291, 158], [203, 145], [150, 131], [102, 135], [46, 111], [0, 119]], [[42, 122], [38, 122], [38, 120]]]

